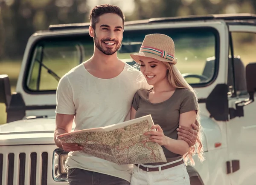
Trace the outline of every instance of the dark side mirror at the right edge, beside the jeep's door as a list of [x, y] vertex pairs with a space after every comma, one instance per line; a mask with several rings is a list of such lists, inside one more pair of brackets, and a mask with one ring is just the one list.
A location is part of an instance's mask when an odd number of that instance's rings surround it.
[[249, 63], [246, 65], [246, 83], [249, 99], [254, 101], [254, 93], [256, 92], [256, 63]]

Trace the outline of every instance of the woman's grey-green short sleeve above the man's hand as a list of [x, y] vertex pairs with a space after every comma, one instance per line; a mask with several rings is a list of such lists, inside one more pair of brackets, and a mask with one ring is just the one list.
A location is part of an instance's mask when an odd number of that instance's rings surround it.
[[180, 114], [189, 111], [198, 111], [198, 102], [194, 92], [186, 89], [180, 104]]

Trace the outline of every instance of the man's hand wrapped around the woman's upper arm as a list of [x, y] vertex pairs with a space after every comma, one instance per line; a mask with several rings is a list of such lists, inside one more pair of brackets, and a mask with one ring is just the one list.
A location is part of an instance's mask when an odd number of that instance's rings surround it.
[[179, 126], [179, 128], [177, 128], [178, 135], [189, 144], [189, 147], [195, 145], [196, 136], [198, 134], [198, 126], [194, 123], [191, 126], [192, 128], [184, 126]]

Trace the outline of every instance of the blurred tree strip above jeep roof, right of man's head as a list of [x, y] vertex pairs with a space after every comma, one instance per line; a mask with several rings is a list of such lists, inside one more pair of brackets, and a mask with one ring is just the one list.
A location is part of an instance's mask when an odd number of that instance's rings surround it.
[[256, 0], [134, 0], [134, 19], [202, 14], [255, 13]]

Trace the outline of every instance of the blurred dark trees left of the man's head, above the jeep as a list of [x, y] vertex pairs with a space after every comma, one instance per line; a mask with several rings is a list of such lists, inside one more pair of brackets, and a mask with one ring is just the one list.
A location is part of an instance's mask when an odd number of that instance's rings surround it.
[[0, 60], [20, 58], [35, 31], [84, 22], [89, 11], [86, 0], [0, 0]]

